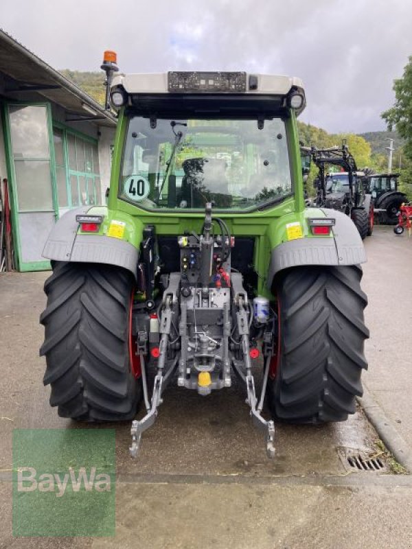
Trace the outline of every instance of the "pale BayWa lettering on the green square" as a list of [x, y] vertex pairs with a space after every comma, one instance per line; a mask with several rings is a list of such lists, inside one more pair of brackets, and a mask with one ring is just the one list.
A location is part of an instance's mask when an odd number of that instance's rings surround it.
[[86, 467], [80, 467], [78, 474], [69, 467], [67, 474], [43, 473], [37, 478], [37, 471], [34, 467], [23, 467], [17, 471], [17, 491], [32, 492], [54, 492], [56, 498], [65, 495], [67, 485], [70, 483], [73, 492], [80, 492], [83, 488], [87, 492], [94, 490], [98, 492], [111, 491], [111, 478], [108, 474], [96, 474], [96, 468], [91, 467], [89, 476]]

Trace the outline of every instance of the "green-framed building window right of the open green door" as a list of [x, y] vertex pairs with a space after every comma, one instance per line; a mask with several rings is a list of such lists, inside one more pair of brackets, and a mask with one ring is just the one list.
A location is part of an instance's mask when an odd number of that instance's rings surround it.
[[98, 143], [64, 128], [53, 133], [59, 209], [101, 204]]

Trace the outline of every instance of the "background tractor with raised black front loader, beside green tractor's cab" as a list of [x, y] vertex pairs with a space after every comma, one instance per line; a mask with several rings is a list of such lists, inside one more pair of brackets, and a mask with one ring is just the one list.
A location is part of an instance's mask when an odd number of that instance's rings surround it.
[[[363, 172], [358, 172], [356, 162], [345, 143], [341, 148], [312, 148], [312, 161], [319, 168], [314, 180], [317, 189], [316, 207], [327, 207], [348, 215], [362, 240], [374, 230], [374, 201], [365, 193]], [[327, 172], [326, 167], [339, 166], [342, 172]]]

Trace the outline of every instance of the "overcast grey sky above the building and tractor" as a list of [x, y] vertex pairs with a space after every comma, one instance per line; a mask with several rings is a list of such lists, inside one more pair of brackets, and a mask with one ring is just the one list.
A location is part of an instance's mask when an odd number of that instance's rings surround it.
[[412, 55], [411, 0], [12, 0], [0, 25], [56, 69], [246, 70], [299, 76], [301, 119], [330, 132], [385, 129]]

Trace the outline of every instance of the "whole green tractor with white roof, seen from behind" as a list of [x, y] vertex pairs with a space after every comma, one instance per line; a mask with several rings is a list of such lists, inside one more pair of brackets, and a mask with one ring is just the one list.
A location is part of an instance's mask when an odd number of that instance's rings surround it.
[[268, 456], [274, 421], [347, 419], [367, 367], [366, 258], [350, 218], [305, 207], [301, 80], [103, 67], [108, 204], [64, 215], [44, 250], [50, 404], [132, 420], [132, 456], [170, 384], [206, 397], [237, 375]]

